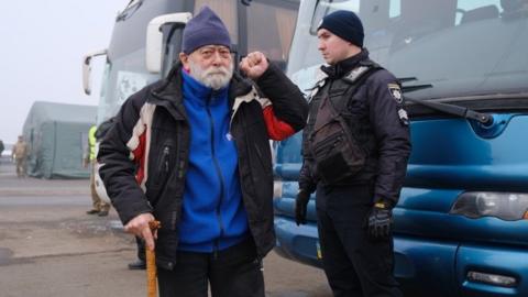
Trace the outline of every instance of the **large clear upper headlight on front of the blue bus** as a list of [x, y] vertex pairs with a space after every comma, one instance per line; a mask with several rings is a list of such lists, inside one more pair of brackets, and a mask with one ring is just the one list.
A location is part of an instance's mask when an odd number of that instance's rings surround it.
[[449, 213], [471, 219], [496, 217], [507, 221], [528, 220], [528, 194], [468, 191], [459, 196]]

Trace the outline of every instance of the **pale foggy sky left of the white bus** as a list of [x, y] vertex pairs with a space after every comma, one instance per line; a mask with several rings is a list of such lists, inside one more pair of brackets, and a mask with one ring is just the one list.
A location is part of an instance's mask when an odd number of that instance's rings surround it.
[[81, 84], [86, 53], [106, 48], [129, 0], [2, 1], [0, 140], [14, 143], [36, 100], [98, 103], [103, 58], [92, 67], [92, 95]]

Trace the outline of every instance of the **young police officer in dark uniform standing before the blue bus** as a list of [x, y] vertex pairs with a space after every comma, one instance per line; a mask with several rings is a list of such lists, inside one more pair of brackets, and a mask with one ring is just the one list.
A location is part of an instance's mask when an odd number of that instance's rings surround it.
[[400, 86], [369, 58], [356, 14], [318, 28], [329, 66], [314, 89], [302, 138], [297, 224], [316, 191], [322, 262], [334, 296], [403, 296], [393, 275], [392, 209], [410, 154]]

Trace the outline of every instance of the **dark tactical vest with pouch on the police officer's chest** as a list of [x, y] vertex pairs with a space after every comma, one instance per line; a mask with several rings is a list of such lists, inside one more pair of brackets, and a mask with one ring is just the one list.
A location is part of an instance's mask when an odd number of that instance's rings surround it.
[[380, 65], [364, 61], [342, 78], [326, 79], [316, 86], [302, 135], [302, 152], [314, 160], [317, 176], [327, 185], [353, 177], [365, 165], [369, 148], [359, 138], [360, 128], [343, 114], [358, 88], [378, 69]]

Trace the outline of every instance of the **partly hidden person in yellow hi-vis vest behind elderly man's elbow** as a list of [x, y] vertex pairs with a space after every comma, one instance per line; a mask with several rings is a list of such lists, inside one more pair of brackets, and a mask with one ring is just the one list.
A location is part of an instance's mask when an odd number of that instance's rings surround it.
[[108, 216], [108, 211], [110, 210], [110, 205], [105, 202], [99, 195], [97, 195], [96, 191], [96, 132], [97, 132], [97, 127], [92, 125], [90, 127], [90, 130], [88, 130], [88, 152], [85, 155], [85, 162], [84, 165], [85, 167], [88, 167], [88, 164], [90, 165], [91, 173], [90, 173], [90, 191], [91, 191], [91, 202], [92, 202], [92, 208], [86, 213], [88, 215], [98, 215], [99, 217], [106, 217]]

